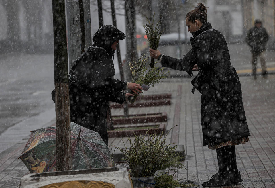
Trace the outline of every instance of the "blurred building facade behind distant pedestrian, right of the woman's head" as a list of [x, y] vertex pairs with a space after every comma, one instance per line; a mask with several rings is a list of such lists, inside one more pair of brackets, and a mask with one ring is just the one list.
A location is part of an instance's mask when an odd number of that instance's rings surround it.
[[222, 32], [227, 40], [243, 38], [254, 26], [255, 19], [262, 20], [270, 36], [275, 36], [274, 0], [208, 0], [208, 20]]

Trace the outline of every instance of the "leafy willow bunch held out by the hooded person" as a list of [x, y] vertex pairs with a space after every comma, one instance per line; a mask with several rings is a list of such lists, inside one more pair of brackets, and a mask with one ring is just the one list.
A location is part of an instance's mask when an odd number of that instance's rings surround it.
[[[129, 63], [132, 77], [131, 82], [140, 85], [152, 85], [152, 87], [154, 87], [154, 84], [160, 83], [161, 79], [167, 78], [168, 72], [164, 72], [163, 67], [153, 66], [148, 70], [148, 68], [150, 67], [146, 66], [148, 60], [149, 56], [145, 56], [144, 54], [140, 56], [140, 58], [138, 58], [137, 62]], [[157, 62], [154, 62], [154, 64], [157, 64]], [[134, 103], [137, 96], [138, 95], [135, 94], [135, 96], [130, 100], [130, 102]]]

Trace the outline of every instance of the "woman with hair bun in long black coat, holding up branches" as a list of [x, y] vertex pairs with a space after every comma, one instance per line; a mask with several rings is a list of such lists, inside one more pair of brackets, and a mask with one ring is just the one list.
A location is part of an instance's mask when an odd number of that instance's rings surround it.
[[[202, 185], [206, 187], [241, 182], [237, 169], [235, 145], [249, 141], [250, 136], [243, 109], [241, 84], [230, 63], [226, 41], [219, 31], [207, 22], [205, 5], [198, 6], [186, 15], [188, 31], [192, 33], [192, 48], [176, 59], [150, 49], [150, 55], [162, 66], [176, 70], [198, 70], [192, 80], [194, 93], [201, 93], [201, 126], [203, 145], [216, 149], [219, 172]], [[229, 171], [227, 170], [229, 169]]]

